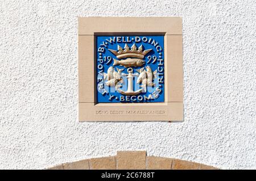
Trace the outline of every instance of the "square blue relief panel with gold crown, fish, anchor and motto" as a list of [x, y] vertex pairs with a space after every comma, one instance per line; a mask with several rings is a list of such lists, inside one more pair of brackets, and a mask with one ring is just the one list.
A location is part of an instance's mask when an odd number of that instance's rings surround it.
[[164, 102], [163, 36], [98, 36], [98, 102]]

